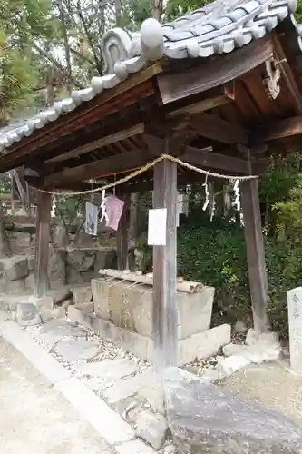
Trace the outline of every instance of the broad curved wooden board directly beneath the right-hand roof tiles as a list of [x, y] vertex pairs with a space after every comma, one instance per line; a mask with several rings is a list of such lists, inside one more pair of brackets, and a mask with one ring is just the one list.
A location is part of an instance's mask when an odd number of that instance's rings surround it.
[[272, 41], [266, 36], [181, 73], [158, 74], [162, 103], [172, 103], [237, 79], [271, 58], [273, 50]]

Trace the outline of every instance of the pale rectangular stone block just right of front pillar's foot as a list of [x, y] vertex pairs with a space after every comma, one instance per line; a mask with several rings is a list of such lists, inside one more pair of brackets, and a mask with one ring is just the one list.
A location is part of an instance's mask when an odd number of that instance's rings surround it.
[[224, 324], [179, 341], [178, 365], [189, 364], [196, 358], [202, 360], [215, 355], [230, 342], [230, 331], [230, 325]]

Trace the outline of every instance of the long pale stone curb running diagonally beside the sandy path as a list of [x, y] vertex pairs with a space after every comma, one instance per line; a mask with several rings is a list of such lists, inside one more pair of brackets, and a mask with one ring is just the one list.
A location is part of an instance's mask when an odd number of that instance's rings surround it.
[[155, 453], [150, 446], [135, 439], [132, 427], [118, 413], [65, 370], [3, 311], [0, 311], [0, 336], [22, 353], [117, 452], [126, 453], [132, 447], [133, 454], [135, 447], [141, 454]]

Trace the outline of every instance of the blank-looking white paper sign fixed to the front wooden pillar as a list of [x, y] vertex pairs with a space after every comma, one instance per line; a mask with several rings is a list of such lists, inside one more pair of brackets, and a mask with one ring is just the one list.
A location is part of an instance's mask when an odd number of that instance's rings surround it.
[[167, 208], [149, 210], [148, 244], [165, 246], [167, 240]]

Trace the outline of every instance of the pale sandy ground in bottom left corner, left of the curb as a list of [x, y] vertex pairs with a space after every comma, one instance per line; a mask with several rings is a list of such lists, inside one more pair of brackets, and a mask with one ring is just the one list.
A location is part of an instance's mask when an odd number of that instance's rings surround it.
[[105, 440], [0, 337], [0, 452], [114, 454]]

